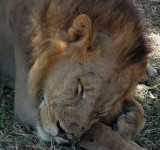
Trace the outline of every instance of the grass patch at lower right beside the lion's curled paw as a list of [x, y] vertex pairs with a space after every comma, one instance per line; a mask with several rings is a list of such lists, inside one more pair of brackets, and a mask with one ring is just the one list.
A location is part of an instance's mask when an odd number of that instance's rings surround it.
[[146, 124], [135, 142], [149, 150], [158, 150], [160, 147], [160, 89], [156, 83], [151, 87], [139, 85], [139, 94], [136, 95], [145, 110]]

